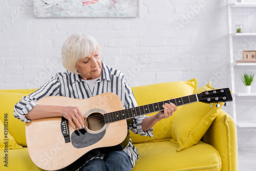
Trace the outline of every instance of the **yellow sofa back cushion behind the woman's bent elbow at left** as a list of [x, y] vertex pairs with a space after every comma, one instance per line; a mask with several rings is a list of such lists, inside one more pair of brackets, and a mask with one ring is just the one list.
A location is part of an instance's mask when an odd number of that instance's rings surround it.
[[0, 120], [3, 122], [4, 114], [8, 115], [8, 131], [15, 141], [22, 146], [27, 146], [25, 123], [14, 117], [13, 108], [22, 97], [29, 95], [33, 91], [35, 89], [0, 91]]

